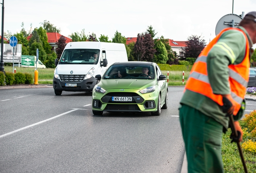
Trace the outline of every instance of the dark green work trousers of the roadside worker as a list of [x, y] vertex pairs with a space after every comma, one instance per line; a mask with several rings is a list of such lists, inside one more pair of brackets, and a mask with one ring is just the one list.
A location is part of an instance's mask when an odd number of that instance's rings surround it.
[[223, 125], [188, 105], [182, 105], [179, 110], [188, 173], [223, 173]]

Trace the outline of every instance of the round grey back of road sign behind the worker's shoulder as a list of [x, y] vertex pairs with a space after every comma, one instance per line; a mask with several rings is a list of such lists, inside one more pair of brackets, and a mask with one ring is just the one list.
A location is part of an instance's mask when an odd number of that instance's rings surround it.
[[[215, 28], [215, 34], [218, 35], [221, 30], [224, 28], [229, 28], [234, 26], [237, 28], [238, 24], [241, 22], [243, 18], [238, 16], [237, 14], [226, 14], [220, 20], [217, 22], [216, 28]], [[233, 24], [232, 24], [233, 20]]]

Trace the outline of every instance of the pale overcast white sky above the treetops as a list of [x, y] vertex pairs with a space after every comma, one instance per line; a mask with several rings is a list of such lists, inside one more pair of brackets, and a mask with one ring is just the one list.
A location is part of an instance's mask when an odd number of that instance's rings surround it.
[[4, 32], [19, 33], [22, 22], [27, 31], [31, 24], [39, 28], [47, 20], [67, 37], [83, 29], [109, 40], [116, 31], [137, 37], [152, 26], [155, 38], [186, 41], [197, 35], [209, 43], [232, 9], [237, 15], [256, 11], [256, 0], [4, 0]]

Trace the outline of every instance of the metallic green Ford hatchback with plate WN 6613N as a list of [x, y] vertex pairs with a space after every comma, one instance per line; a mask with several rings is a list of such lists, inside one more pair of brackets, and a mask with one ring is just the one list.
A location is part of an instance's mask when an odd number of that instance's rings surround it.
[[116, 62], [93, 88], [94, 115], [107, 112], [150, 112], [160, 115], [168, 106], [166, 76], [154, 62]]

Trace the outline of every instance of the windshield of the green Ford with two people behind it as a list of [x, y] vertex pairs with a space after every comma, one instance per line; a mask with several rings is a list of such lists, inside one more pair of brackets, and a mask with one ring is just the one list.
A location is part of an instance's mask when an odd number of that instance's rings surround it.
[[105, 72], [103, 79], [154, 79], [154, 67], [152, 65], [112, 65]]

